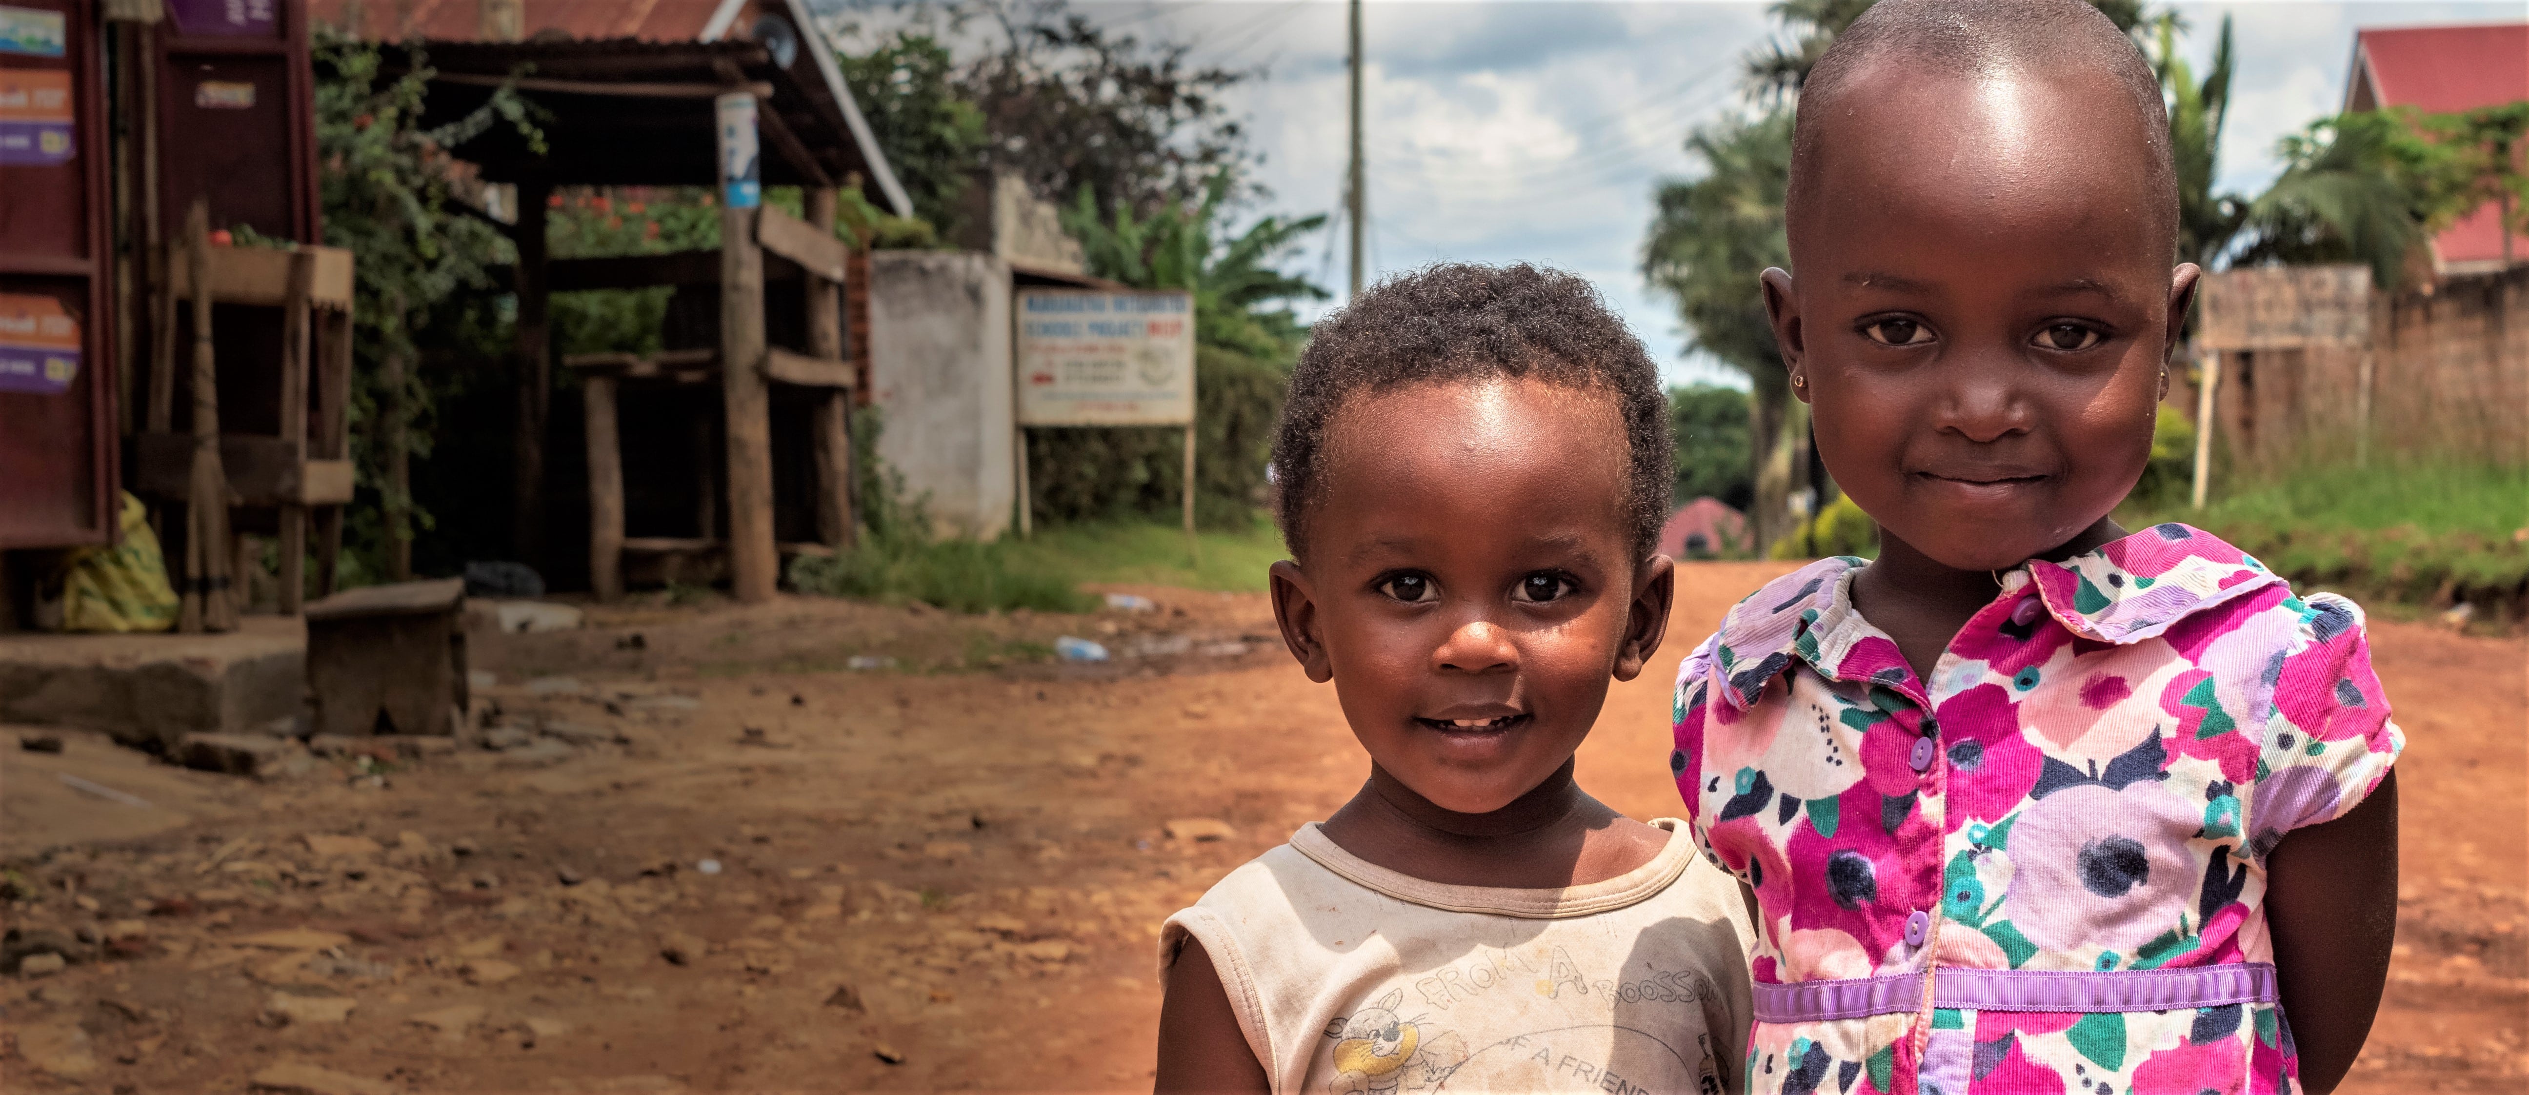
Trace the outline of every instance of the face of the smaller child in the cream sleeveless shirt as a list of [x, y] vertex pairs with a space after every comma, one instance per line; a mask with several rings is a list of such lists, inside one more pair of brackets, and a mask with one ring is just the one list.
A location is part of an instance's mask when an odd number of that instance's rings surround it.
[[1361, 395], [1328, 422], [1282, 640], [1391, 776], [1462, 814], [1573, 756], [1669, 620], [1636, 564], [1614, 397], [1525, 379]]

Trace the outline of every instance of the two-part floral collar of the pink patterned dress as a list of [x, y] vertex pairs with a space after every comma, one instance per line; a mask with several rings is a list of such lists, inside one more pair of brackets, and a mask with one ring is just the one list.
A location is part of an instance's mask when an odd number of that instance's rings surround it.
[[[1727, 683], [1720, 693], [1745, 711], [1793, 660], [1841, 680], [1839, 668], [1856, 642], [1887, 640], [1887, 632], [1854, 612], [1851, 582], [1861, 566], [1869, 561], [1818, 559], [1737, 602], [1722, 620], [1715, 650], [1715, 675]], [[2284, 579], [2220, 536], [2170, 521], [2064, 561], [2031, 559], [2013, 566], [2003, 572], [1995, 599], [2013, 599], [2031, 582], [2046, 615], [2064, 630], [2127, 645]]]

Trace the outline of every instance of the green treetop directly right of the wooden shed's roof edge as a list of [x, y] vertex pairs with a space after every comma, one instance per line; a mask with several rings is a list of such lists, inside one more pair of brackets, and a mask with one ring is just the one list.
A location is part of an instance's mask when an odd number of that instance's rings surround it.
[[958, 89], [948, 46], [926, 28], [900, 28], [873, 51], [840, 53], [835, 61], [870, 134], [888, 152], [888, 167], [913, 197], [913, 215], [956, 235], [966, 187], [974, 185], [991, 134], [984, 129], [984, 111]]

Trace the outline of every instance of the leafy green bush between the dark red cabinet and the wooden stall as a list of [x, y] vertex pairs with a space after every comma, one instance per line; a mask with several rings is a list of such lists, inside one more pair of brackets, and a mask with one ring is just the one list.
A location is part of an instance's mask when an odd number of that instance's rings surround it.
[[[498, 230], [455, 207], [453, 162], [443, 149], [501, 124], [516, 126], [536, 149], [544, 134], [531, 121], [531, 106], [506, 86], [473, 114], [422, 129], [432, 68], [417, 48], [407, 51], [397, 78], [379, 76], [379, 46], [329, 25], [316, 25], [311, 51], [324, 243], [349, 248], [359, 260], [349, 392], [359, 496], [344, 554], [352, 572], [374, 574], [387, 539], [382, 491], [392, 488], [374, 427], [379, 407], [397, 397], [384, 389], [382, 362], [405, 362], [400, 397], [412, 410], [405, 450], [427, 458], [435, 412], [463, 392], [463, 377], [422, 369], [420, 362], [438, 354], [488, 357], [506, 341], [488, 266], [511, 260], [513, 250]], [[410, 506], [417, 529], [430, 529], [430, 511], [410, 498], [400, 503]]]

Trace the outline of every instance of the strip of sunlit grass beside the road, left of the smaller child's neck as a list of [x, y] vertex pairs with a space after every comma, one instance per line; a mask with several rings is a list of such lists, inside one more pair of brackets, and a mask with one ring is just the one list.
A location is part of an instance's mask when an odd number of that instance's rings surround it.
[[1290, 559], [1272, 521], [1257, 516], [1244, 529], [1186, 529], [1156, 521], [1100, 521], [1037, 529], [1034, 539], [1007, 541], [1017, 559], [1080, 584], [1156, 584], [1179, 589], [1264, 592], [1264, 569]]

